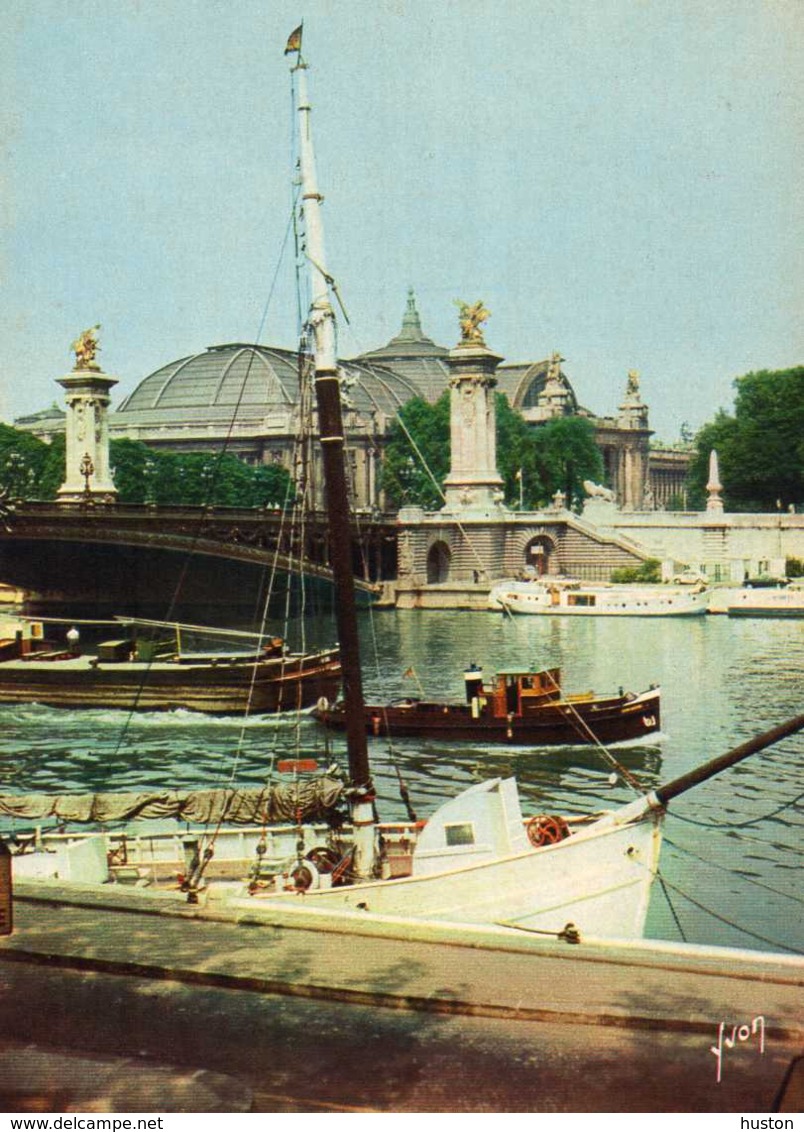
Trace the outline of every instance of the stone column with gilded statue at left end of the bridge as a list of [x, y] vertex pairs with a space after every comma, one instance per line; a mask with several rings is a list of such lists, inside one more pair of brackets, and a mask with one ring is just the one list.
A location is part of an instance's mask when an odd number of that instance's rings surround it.
[[109, 391], [117, 385], [95, 361], [95, 326], [72, 343], [76, 363], [59, 380], [67, 393], [67, 453], [59, 503], [113, 503], [117, 489], [109, 466]]

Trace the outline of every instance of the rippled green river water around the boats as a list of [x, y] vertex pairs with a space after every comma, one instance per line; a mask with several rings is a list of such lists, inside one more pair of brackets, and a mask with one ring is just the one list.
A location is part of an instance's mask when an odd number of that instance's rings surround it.
[[[487, 674], [561, 666], [567, 691], [662, 688], [662, 735], [613, 752], [650, 787], [802, 712], [804, 623], [726, 617], [510, 619], [494, 612], [361, 616], [367, 698], [462, 696], [469, 662]], [[308, 641], [331, 643], [318, 625]], [[412, 675], [410, 675], [412, 672]], [[407, 675], [408, 674], [408, 675]], [[259, 783], [277, 757], [337, 756], [340, 739], [301, 721], [189, 712], [0, 707], [0, 790], [127, 790]], [[327, 749], [331, 744], [333, 749]], [[676, 799], [666, 822], [648, 934], [804, 953], [801, 885], [804, 736]], [[515, 774], [527, 813], [587, 813], [633, 797], [589, 748], [373, 743], [380, 816], [403, 817], [397, 773], [419, 817], [465, 786]], [[668, 902], [669, 901], [669, 902]]]

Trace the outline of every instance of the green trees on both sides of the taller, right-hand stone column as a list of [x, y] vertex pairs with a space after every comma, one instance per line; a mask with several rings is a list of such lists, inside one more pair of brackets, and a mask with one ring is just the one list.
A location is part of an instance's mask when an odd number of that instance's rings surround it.
[[[602, 474], [591, 422], [566, 417], [533, 428], [502, 393], [496, 395], [495, 410], [497, 468], [505, 501], [539, 507], [563, 491], [567, 506], [580, 507], [583, 480], [599, 480]], [[450, 471], [450, 394], [443, 394], [435, 405], [414, 397], [399, 417], [383, 461], [382, 486], [388, 504], [436, 511], [444, 503], [441, 489]]]

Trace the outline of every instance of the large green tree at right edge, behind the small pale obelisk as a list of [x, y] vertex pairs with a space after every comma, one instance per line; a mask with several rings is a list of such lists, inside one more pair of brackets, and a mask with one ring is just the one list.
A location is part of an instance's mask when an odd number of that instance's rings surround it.
[[804, 366], [738, 377], [734, 413], [720, 411], [695, 438], [693, 506], [707, 497], [709, 455], [718, 453], [729, 511], [776, 511], [804, 503]]

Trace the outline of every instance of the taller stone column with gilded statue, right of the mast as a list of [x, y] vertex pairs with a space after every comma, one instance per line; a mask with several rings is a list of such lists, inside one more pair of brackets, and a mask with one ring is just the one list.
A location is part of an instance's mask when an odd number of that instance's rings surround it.
[[498, 511], [503, 479], [497, 471], [494, 371], [503, 360], [480, 332], [489, 317], [481, 302], [461, 303], [461, 341], [450, 351], [450, 474], [444, 511]]

